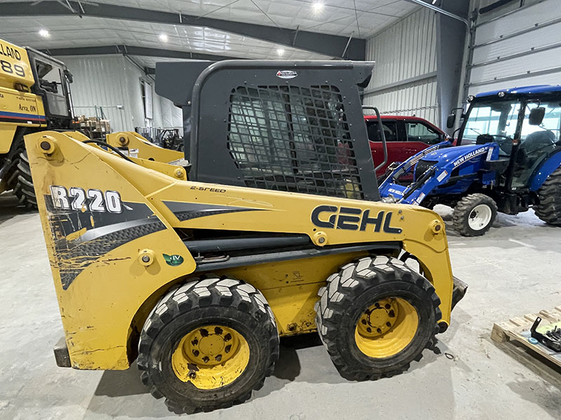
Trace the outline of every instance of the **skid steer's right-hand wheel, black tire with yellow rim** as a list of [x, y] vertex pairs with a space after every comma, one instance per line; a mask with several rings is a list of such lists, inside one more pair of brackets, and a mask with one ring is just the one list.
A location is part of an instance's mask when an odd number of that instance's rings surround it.
[[440, 299], [424, 276], [398, 258], [344, 265], [318, 295], [318, 333], [346, 379], [399, 374], [436, 343]]

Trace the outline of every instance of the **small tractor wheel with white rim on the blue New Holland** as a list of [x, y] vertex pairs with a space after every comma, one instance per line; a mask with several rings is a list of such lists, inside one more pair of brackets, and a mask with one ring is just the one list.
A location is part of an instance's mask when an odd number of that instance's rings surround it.
[[488, 195], [466, 195], [454, 207], [452, 225], [454, 230], [466, 237], [485, 235], [496, 219], [496, 212], [496, 203]]

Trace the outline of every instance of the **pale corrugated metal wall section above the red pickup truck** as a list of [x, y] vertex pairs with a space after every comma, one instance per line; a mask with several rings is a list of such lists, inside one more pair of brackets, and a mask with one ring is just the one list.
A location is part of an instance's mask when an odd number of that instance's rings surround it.
[[376, 65], [365, 90], [365, 105], [377, 106], [381, 113], [415, 115], [440, 125], [433, 11], [420, 8], [367, 40], [366, 59]]

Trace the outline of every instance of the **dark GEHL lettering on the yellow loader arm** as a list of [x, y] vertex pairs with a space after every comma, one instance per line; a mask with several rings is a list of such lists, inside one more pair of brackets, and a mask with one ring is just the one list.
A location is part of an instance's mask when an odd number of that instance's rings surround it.
[[392, 228], [392, 212], [379, 211], [377, 216], [370, 216], [370, 209], [362, 210], [354, 207], [318, 206], [311, 212], [311, 223], [318, 228], [366, 230], [373, 226], [374, 232], [382, 230], [386, 233], [401, 233], [400, 228]]

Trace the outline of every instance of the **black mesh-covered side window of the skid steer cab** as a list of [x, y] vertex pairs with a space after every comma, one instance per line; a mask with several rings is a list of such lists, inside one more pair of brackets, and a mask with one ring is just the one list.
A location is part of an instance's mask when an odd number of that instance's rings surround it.
[[237, 87], [228, 148], [248, 187], [363, 198], [336, 86]]

